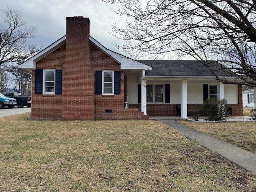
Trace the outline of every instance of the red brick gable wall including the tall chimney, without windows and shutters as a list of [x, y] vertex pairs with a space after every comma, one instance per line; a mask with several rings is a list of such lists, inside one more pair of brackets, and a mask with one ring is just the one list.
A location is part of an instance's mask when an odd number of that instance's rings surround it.
[[[89, 41], [88, 18], [67, 18], [66, 43], [37, 61], [37, 69], [62, 70], [62, 94], [35, 94], [32, 70], [33, 119], [147, 119], [136, 108], [124, 109], [124, 72], [121, 94], [95, 94], [96, 70], [119, 70], [120, 64]], [[112, 113], [106, 113], [112, 109]]]

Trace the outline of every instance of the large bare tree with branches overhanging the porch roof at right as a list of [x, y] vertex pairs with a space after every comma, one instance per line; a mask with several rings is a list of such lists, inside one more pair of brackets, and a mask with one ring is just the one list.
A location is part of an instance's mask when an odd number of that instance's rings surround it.
[[112, 24], [125, 42], [118, 48], [133, 56], [190, 56], [220, 82], [256, 87], [256, 0], [104, 1], [121, 4], [116, 13], [130, 19], [126, 27]]

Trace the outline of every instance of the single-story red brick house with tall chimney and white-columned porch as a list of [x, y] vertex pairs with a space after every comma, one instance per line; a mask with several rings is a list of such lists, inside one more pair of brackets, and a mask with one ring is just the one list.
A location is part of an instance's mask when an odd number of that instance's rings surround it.
[[242, 86], [218, 82], [198, 61], [118, 54], [90, 36], [89, 18], [67, 17], [66, 35], [20, 68], [32, 71], [33, 119], [187, 118], [210, 97], [226, 98], [232, 115], [242, 115]]

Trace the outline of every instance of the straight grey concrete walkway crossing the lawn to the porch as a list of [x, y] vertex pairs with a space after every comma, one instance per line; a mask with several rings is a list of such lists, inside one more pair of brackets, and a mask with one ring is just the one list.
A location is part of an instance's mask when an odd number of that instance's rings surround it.
[[195, 129], [189, 128], [174, 120], [159, 120], [164, 124], [178, 130], [187, 138], [213, 150], [221, 156], [229, 159], [242, 168], [256, 174], [256, 154], [213, 138]]

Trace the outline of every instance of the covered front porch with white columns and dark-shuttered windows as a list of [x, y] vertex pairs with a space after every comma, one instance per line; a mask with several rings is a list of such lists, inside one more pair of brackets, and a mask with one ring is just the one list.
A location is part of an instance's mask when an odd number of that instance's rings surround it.
[[242, 116], [242, 87], [223, 84], [212, 76], [146, 76], [125, 71], [125, 101], [148, 116], [188, 118], [208, 98], [225, 98], [233, 116]]

